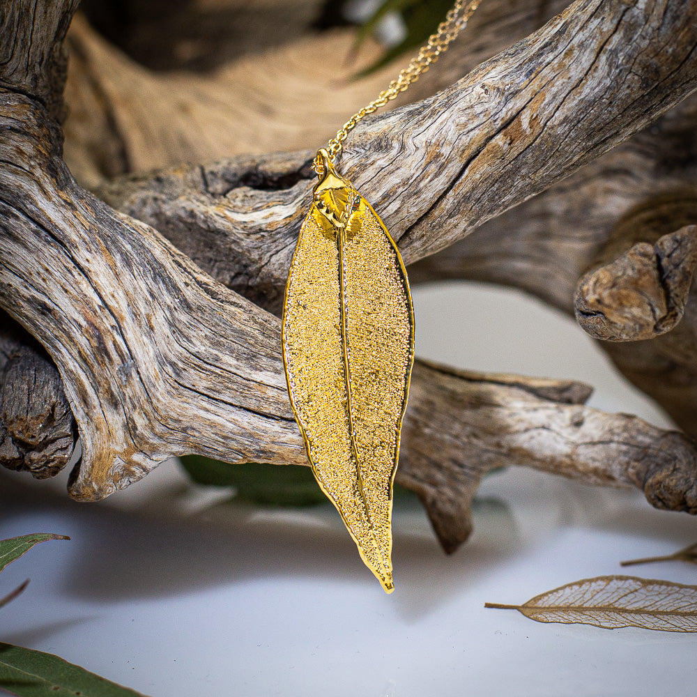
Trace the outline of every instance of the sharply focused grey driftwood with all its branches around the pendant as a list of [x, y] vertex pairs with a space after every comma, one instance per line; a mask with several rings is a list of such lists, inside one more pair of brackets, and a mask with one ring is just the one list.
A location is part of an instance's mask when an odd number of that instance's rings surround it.
[[[20, 40], [2, 45], [2, 65], [13, 70], [0, 75], [0, 302], [46, 346], [63, 377], [84, 447], [70, 485], [73, 496], [105, 496], [171, 454], [198, 452], [231, 462], [305, 461], [286, 397], [277, 319], [201, 272], [151, 227], [82, 190], [59, 157], [56, 126], [43, 92], [37, 89], [32, 97], [31, 90], [15, 89], [40, 86], [33, 72], [40, 72], [47, 56], [55, 54], [54, 40], [66, 25], [58, 3], [39, 4], [40, 11], [33, 13], [24, 4], [15, 3], [15, 20], [31, 24], [31, 31], [15, 31]], [[405, 251], [411, 259], [565, 176], [687, 94], [697, 71], [697, 59], [691, 58], [697, 28], [684, 20], [684, 3], [680, 8], [674, 0], [658, 4], [606, 7], [579, 1], [438, 101], [374, 119], [357, 132], [353, 147], [358, 154], [345, 158], [345, 164], [355, 170], [359, 185], [365, 181], [362, 188], [385, 211], [397, 236], [408, 233]], [[674, 41], [671, 59], [656, 63], [649, 47], [662, 40], [668, 24], [684, 42]], [[639, 26], [643, 31], [637, 39]], [[22, 63], [15, 55], [26, 54], [22, 41], [29, 36], [32, 46], [44, 47], [36, 64]], [[631, 75], [612, 59], [619, 46], [631, 47]], [[603, 71], [610, 75], [600, 79], [596, 72]], [[555, 86], [549, 84], [553, 77]], [[615, 92], [603, 118], [596, 118], [596, 131], [583, 122], [582, 112], [595, 104], [599, 91], [606, 93], [608, 84]], [[540, 92], [543, 85], [546, 91]], [[579, 123], [571, 137], [561, 116], [574, 114]], [[468, 115], [472, 118], [465, 126]], [[390, 136], [395, 127], [397, 139]], [[403, 140], [409, 134], [413, 143]], [[367, 150], [371, 140], [376, 152]], [[550, 149], [556, 158], [544, 160]], [[422, 161], [422, 153], [446, 152], [450, 157]], [[368, 186], [369, 170], [358, 160], [381, 171], [380, 154], [386, 161], [418, 163], [422, 179], [409, 168], [392, 169]], [[247, 275], [245, 286], [261, 275], [252, 293], [266, 293], [269, 307], [309, 190], [307, 158], [291, 160], [294, 171], [287, 162], [277, 171], [281, 160], [271, 158], [262, 167], [197, 167], [160, 178], [167, 194], [177, 187], [199, 188], [199, 198], [192, 198], [185, 213], [202, 223], [194, 225], [197, 231], [206, 224], [216, 229], [214, 223], [229, 231], [228, 252], [235, 240], [243, 256], [237, 273]], [[539, 176], [512, 182], [515, 167], [529, 175], [535, 162], [543, 160]], [[272, 174], [276, 168], [271, 181], [277, 190], [266, 187], [270, 179], [264, 167]], [[254, 176], [261, 178], [261, 190], [250, 187]], [[473, 196], [465, 209], [459, 194], [478, 192], [481, 183], [491, 187], [491, 196]], [[424, 193], [429, 187], [441, 191], [435, 206]], [[205, 206], [197, 210], [194, 204], [201, 201]], [[439, 238], [425, 227], [433, 221], [449, 222], [452, 229]], [[238, 279], [229, 282], [236, 286]], [[474, 391], [463, 386], [477, 382], [482, 384]], [[415, 372], [400, 477], [435, 511], [445, 546], [466, 536], [468, 497], [477, 477], [506, 464], [507, 457], [543, 468], [552, 461], [556, 471], [591, 481], [638, 485], [654, 504], [694, 512], [696, 454], [690, 441], [622, 415], [599, 416], [577, 404], [558, 404], [582, 401], [584, 390], [578, 386], [511, 382], [426, 365]], [[505, 388], [503, 399], [497, 385]], [[569, 391], [575, 397], [560, 397]], [[434, 397], [438, 392], [441, 397]], [[468, 436], [470, 445], [477, 438], [483, 444], [471, 445], [469, 451], [480, 452], [478, 466], [464, 469], [454, 458], [464, 447], [458, 445], [458, 434], [466, 432], [455, 404], [468, 419], [465, 424], [481, 420]], [[484, 407], [494, 411], [487, 413]], [[492, 429], [496, 423], [498, 429]], [[434, 431], [448, 441], [453, 427], [454, 451], [439, 448], [452, 457], [448, 469], [441, 457], [434, 460], [426, 444]], [[669, 464], [657, 455], [666, 443], [671, 444]], [[463, 477], [466, 483], [458, 484]], [[461, 491], [463, 498], [441, 496], [441, 486]]]

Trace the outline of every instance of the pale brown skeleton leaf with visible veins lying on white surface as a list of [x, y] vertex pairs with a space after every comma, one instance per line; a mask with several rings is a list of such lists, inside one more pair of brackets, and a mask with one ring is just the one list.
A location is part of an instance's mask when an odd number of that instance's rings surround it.
[[697, 586], [634, 576], [598, 576], [562, 585], [522, 605], [485, 607], [518, 610], [536, 622], [697, 631]]

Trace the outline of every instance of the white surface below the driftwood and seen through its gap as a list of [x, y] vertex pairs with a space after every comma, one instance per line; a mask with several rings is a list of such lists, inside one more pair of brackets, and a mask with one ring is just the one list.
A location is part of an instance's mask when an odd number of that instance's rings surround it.
[[[593, 406], [668, 424], [571, 320], [529, 298], [474, 284], [422, 287], [415, 311], [424, 358], [579, 378], [595, 385]], [[0, 610], [0, 641], [57, 653], [153, 697], [697, 691], [697, 635], [544, 625], [483, 607], [627, 573], [622, 559], [697, 541], [694, 519], [652, 510], [638, 493], [510, 468], [484, 481], [473, 537], [450, 557], [420, 505], [399, 500], [397, 590], [388, 596], [330, 505], [226, 503], [227, 494], [187, 484], [174, 463], [100, 504], [74, 503], [64, 486], [65, 477], [0, 475], [0, 537], [72, 537], [37, 546], [1, 574], [0, 595], [28, 576], [31, 584]], [[697, 583], [687, 564], [631, 573]]]

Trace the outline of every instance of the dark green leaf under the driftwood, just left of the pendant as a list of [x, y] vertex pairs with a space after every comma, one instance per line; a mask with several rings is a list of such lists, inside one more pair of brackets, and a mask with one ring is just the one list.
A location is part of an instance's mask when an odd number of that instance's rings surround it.
[[186, 455], [181, 462], [198, 484], [235, 487], [240, 499], [277, 506], [312, 506], [326, 498], [309, 467], [247, 462], [231, 465], [199, 455]]

